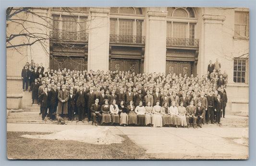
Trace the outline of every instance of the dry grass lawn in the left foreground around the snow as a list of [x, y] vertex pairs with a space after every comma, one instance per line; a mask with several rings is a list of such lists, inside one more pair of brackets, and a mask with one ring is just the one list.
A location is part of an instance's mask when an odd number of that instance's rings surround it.
[[145, 150], [126, 135], [122, 144], [88, 144], [78, 141], [40, 140], [20, 137], [40, 132], [7, 132], [9, 159], [148, 159]]

